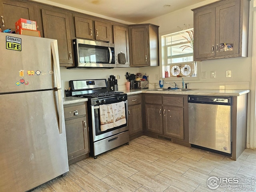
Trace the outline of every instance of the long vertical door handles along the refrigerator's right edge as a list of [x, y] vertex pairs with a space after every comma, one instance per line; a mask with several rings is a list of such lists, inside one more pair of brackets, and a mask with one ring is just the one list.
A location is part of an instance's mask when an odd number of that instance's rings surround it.
[[61, 80], [60, 80], [60, 64], [58, 55], [58, 44], [57, 41], [51, 42], [53, 66], [54, 66], [54, 76], [56, 80], [57, 93], [58, 93], [58, 113], [59, 113], [59, 132], [62, 134], [63, 130], [63, 102], [62, 102], [62, 91], [61, 91]]

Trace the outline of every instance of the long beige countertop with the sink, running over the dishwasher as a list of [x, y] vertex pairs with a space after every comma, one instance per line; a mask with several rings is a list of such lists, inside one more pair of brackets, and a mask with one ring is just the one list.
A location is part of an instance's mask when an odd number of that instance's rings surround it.
[[154, 93], [154, 94], [178, 94], [178, 95], [202, 95], [202, 96], [240, 96], [247, 94], [250, 90], [236, 90], [236, 89], [193, 89], [188, 91], [176, 91], [176, 90], [122, 90], [127, 95], [139, 94], [139, 93]]

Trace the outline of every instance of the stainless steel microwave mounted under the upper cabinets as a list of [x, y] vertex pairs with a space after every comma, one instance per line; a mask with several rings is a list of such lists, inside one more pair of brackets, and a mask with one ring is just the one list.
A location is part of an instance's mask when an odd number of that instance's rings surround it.
[[68, 69], [116, 67], [115, 45], [112, 43], [74, 39], [73, 46], [75, 66]]

